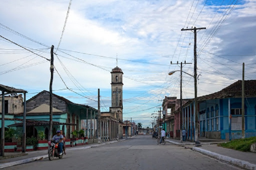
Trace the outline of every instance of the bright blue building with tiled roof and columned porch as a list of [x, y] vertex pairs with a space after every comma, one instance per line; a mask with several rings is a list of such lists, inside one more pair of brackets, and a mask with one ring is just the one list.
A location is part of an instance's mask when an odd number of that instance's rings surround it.
[[[244, 96], [245, 138], [248, 138], [256, 136], [256, 80], [244, 81]], [[200, 137], [226, 140], [241, 138], [242, 81], [236, 81], [216, 93], [198, 97], [197, 113]], [[194, 99], [183, 105], [182, 120], [188, 138], [193, 140]]]

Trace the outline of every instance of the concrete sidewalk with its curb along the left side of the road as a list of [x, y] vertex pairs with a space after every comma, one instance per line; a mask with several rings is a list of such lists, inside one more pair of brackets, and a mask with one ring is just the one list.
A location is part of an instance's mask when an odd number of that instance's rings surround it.
[[[97, 146], [101, 146], [101, 145], [111, 144], [111, 143], [115, 143], [115, 142], [119, 142], [119, 141], [123, 141], [123, 140], [126, 140], [126, 139], [101, 142], [101, 144], [90, 144], [90, 145], [69, 147], [69, 148], [66, 148], [66, 153], [68, 154], [68, 152], [71, 152], [74, 150], [88, 149], [91, 147], [97, 147]], [[7, 155], [9, 156], [10, 153], [8, 153]], [[13, 158], [7, 158], [7, 159], [2, 158], [0, 160], [0, 169], [48, 158], [48, 150], [27, 152], [25, 155], [19, 154], [19, 153], [14, 153], [13, 155], [19, 155], [19, 156], [13, 157]]]

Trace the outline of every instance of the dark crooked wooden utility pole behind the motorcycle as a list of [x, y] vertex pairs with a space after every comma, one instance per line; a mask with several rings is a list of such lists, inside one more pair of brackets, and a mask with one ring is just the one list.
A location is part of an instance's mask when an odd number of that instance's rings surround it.
[[[53, 49], [54, 46], [51, 47], [51, 80], [50, 80], [50, 122], [49, 122], [49, 134], [48, 134], [48, 140], [52, 139], [52, 81], [53, 81], [53, 71], [54, 71], [54, 65], [53, 65]], [[48, 147], [49, 151], [50, 147]]]

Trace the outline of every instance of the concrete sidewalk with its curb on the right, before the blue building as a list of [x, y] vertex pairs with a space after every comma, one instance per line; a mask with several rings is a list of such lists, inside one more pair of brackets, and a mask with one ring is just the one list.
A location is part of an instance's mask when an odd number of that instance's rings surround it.
[[195, 143], [193, 142], [180, 143], [180, 140], [168, 138], [166, 141], [175, 145], [181, 145], [185, 148], [190, 148], [193, 151], [200, 152], [240, 168], [256, 170], [256, 153], [253, 152], [241, 152], [223, 148], [212, 144], [212, 142], [201, 142], [202, 146], [194, 147], [193, 145], [195, 145]]

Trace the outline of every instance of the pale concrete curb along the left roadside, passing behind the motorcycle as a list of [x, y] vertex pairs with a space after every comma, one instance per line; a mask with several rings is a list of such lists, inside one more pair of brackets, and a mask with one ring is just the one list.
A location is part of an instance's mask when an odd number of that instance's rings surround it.
[[[68, 151], [74, 151], [74, 150], [80, 150], [80, 149], [88, 149], [88, 148], [97, 147], [97, 146], [101, 146], [101, 145], [106, 145], [106, 144], [112, 144], [112, 143], [115, 143], [115, 142], [120, 142], [120, 141], [123, 141], [123, 140], [126, 140], [126, 139], [111, 141], [111, 142], [103, 143], [103, 144], [79, 147], [79, 148], [70, 148], [70, 149], [68, 149]], [[8, 162], [8, 163], [0, 164], [0, 169], [4, 169], [4, 168], [11, 167], [11, 166], [16, 166], [16, 165], [21, 165], [21, 164], [26, 164], [26, 163], [29, 163], [29, 162], [34, 162], [36, 160], [42, 160], [42, 159], [45, 159], [45, 158], [48, 158], [48, 154], [47, 155], [43, 155], [43, 156], [37, 156], [37, 157], [34, 157], [34, 158], [22, 159], [22, 160], [17, 160], [17, 161], [14, 161], [14, 162]]]

